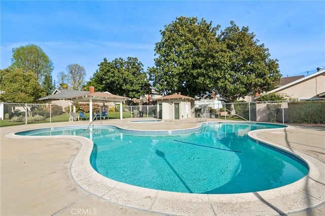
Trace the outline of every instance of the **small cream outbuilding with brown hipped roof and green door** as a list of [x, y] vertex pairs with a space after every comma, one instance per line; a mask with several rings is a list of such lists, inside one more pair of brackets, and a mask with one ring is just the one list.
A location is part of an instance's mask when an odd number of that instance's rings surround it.
[[159, 119], [185, 119], [195, 117], [194, 98], [181, 95], [167, 95], [155, 98], [157, 102], [157, 118]]

